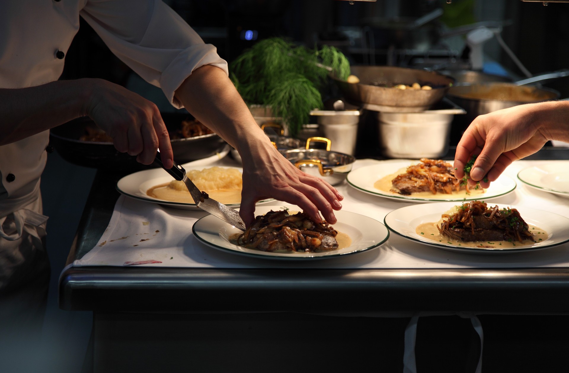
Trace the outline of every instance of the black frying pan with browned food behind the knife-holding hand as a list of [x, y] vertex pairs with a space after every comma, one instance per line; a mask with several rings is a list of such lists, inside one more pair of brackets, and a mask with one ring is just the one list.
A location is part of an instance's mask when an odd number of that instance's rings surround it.
[[[163, 113], [168, 132], [174, 133], [188, 114]], [[81, 117], [57, 126], [50, 131], [50, 145], [69, 163], [107, 171], [138, 171], [152, 165], [138, 163], [135, 156], [121, 153], [110, 142], [81, 141], [85, 128], [94, 126], [89, 117]], [[217, 134], [171, 140], [174, 159], [180, 163], [203, 159], [224, 150], [226, 143]], [[154, 166], [155, 167], [155, 166]]]

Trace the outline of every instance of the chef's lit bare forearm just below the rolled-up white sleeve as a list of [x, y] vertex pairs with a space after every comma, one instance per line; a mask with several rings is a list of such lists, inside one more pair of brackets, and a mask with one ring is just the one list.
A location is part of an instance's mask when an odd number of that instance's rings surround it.
[[220, 68], [204, 65], [195, 69], [175, 96], [196, 119], [240, 153], [248, 143], [267, 139]]

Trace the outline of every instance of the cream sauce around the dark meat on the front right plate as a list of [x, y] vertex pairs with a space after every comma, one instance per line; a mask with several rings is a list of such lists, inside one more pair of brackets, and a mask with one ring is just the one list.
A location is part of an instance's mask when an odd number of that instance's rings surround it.
[[[509, 242], [509, 241], [474, 241], [474, 242], [465, 242], [459, 241], [456, 239], [450, 239], [448, 237], [444, 237], [439, 233], [439, 229], [436, 227], [440, 225], [442, 220], [439, 220], [435, 223], [423, 223], [420, 224], [417, 229], [415, 229], [415, 233], [420, 234], [424, 238], [432, 239], [432, 241], [440, 242], [440, 243], [447, 243], [452, 244], [454, 246], [461, 246], [461, 247], [475, 247], [475, 248], [518, 248], [524, 247], [528, 245], [534, 244], [533, 241], [527, 239], [523, 242]], [[534, 234], [535, 242], [545, 241], [547, 239], [547, 232], [541, 228], [538, 228], [533, 225], [529, 225], [529, 230], [531, 233]]]

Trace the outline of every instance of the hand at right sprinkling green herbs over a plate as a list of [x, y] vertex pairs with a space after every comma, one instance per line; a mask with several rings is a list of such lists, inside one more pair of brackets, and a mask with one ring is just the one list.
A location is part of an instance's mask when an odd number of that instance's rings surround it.
[[513, 161], [540, 150], [550, 136], [546, 126], [548, 109], [552, 108], [527, 104], [476, 117], [456, 147], [457, 179], [464, 176], [464, 165], [472, 155], [479, 154], [468, 183], [475, 185], [479, 181], [482, 188], [488, 188], [490, 181], [498, 179]]

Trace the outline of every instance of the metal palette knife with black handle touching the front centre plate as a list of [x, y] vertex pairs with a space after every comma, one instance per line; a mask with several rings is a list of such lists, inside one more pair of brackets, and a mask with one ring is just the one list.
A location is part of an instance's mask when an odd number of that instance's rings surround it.
[[160, 159], [160, 151], [156, 152], [155, 162], [166, 170], [166, 172], [170, 173], [174, 179], [184, 182], [185, 186], [188, 188], [189, 194], [192, 195], [193, 201], [196, 202], [197, 207], [220, 218], [222, 221], [228, 222], [234, 227], [245, 231], [245, 223], [241, 219], [239, 213], [213, 198], [209, 198], [207, 193], [200, 192], [200, 189], [197, 189], [197, 186], [192, 183], [192, 180], [188, 179], [185, 169], [181, 165], [174, 161], [174, 166], [172, 168], [168, 169], [164, 167], [162, 159]]

